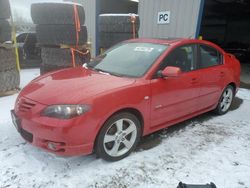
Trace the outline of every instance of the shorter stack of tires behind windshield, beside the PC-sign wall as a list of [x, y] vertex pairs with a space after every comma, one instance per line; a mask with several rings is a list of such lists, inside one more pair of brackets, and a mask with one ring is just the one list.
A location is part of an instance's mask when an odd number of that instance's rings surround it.
[[[133, 23], [133, 17], [135, 22]], [[101, 14], [99, 15], [99, 46], [107, 49], [111, 46], [138, 37], [139, 16], [136, 14]]]

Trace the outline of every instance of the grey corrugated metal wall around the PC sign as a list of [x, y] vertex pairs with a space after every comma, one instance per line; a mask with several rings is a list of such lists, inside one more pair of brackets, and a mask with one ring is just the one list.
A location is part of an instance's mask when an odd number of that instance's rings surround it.
[[[140, 37], [195, 38], [201, 0], [140, 0]], [[158, 12], [170, 11], [170, 23], [157, 24]]]

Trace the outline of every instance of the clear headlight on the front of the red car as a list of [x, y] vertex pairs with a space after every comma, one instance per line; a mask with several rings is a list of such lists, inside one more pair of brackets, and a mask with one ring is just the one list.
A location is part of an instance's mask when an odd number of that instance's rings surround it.
[[43, 112], [43, 116], [58, 119], [71, 119], [89, 111], [88, 105], [52, 105], [48, 106]]

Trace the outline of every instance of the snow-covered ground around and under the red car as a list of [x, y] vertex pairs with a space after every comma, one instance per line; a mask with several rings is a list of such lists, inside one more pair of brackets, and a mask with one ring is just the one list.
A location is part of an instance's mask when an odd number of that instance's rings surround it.
[[[38, 70], [21, 76], [23, 87]], [[148, 136], [114, 163], [95, 155], [62, 158], [27, 144], [11, 123], [16, 97], [0, 98], [0, 188], [176, 188], [179, 181], [250, 188], [249, 90], [240, 89], [228, 114], [208, 113]]]

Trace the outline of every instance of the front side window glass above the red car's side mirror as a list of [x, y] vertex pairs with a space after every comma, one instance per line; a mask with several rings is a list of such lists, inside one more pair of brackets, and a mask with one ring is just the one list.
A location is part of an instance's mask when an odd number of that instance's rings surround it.
[[194, 45], [185, 45], [174, 49], [163, 59], [158, 70], [163, 70], [167, 66], [179, 67], [182, 72], [195, 70]]

